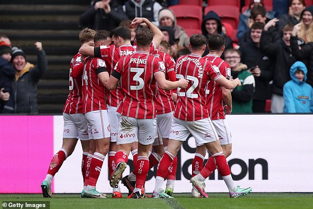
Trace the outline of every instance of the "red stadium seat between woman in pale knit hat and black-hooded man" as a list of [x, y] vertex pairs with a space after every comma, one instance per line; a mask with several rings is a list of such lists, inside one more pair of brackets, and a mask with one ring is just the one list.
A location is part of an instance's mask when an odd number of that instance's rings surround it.
[[184, 29], [200, 29], [202, 22], [202, 7], [196, 5], [178, 4], [170, 6], [173, 10], [177, 24]]

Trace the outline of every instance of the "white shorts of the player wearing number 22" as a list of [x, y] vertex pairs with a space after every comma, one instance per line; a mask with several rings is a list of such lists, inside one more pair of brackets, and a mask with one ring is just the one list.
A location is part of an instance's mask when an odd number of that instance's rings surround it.
[[219, 139], [214, 125], [209, 118], [199, 121], [182, 121], [173, 118], [169, 138], [178, 141], [186, 141], [189, 134], [194, 136], [196, 146], [217, 141]]

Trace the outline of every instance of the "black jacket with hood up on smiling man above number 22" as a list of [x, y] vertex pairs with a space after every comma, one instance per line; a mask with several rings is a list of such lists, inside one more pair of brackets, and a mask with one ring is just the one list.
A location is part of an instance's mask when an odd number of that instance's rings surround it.
[[[224, 34], [222, 32], [222, 22], [221, 22], [221, 18], [218, 16], [217, 13], [215, 13], [214, 11], [209, 11], [203, 18], [203, 21], [201, 23], [201, 31], [202, 34], [208, 39], [210, 37], [210, 35], [208, 34], [208, 32], [205, 29], [205, 22], [207, 20], [216, 20], [217, 22], [217, 33], [221, 34], [224, 38], [225, 38], [225, 51], [227, 49], [233, 48], [233, 41], [231, 38], [229, 38], [228, 36], [226, 36], [226, 34]], [[207, 55], [209, 53], [209, 49], [208, 47], [205, 48], [205, 51], [203, 53], [203, 56]], [[224, 58], [224, 53], [222, 54], [221, 58]]]

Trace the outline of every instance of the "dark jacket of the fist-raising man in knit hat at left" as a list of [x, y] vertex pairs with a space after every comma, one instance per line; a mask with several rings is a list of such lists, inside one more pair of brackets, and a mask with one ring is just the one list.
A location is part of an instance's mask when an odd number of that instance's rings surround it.
[[24, 69], [15, 74], [15, 113], [38, 114], [37, 86], [48, 65], [43, 49], [38, 52], [37, 59], [37, 66], [27, 62]]

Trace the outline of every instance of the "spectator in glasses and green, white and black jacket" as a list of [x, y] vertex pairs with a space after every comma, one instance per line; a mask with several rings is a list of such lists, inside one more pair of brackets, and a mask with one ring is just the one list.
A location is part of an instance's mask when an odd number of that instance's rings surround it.
[[241, 53], [237, 49], [228, 49], [225, 52], [225, 61], [231, 67], [233, 79], [238, 78], [241, 86], [235, 87], [232, 92], [232, 113], [252, 113], [252, 99], [254, 94], [255, 80], [253, 75], [247, 71], [247, 65], [241, 63]]

